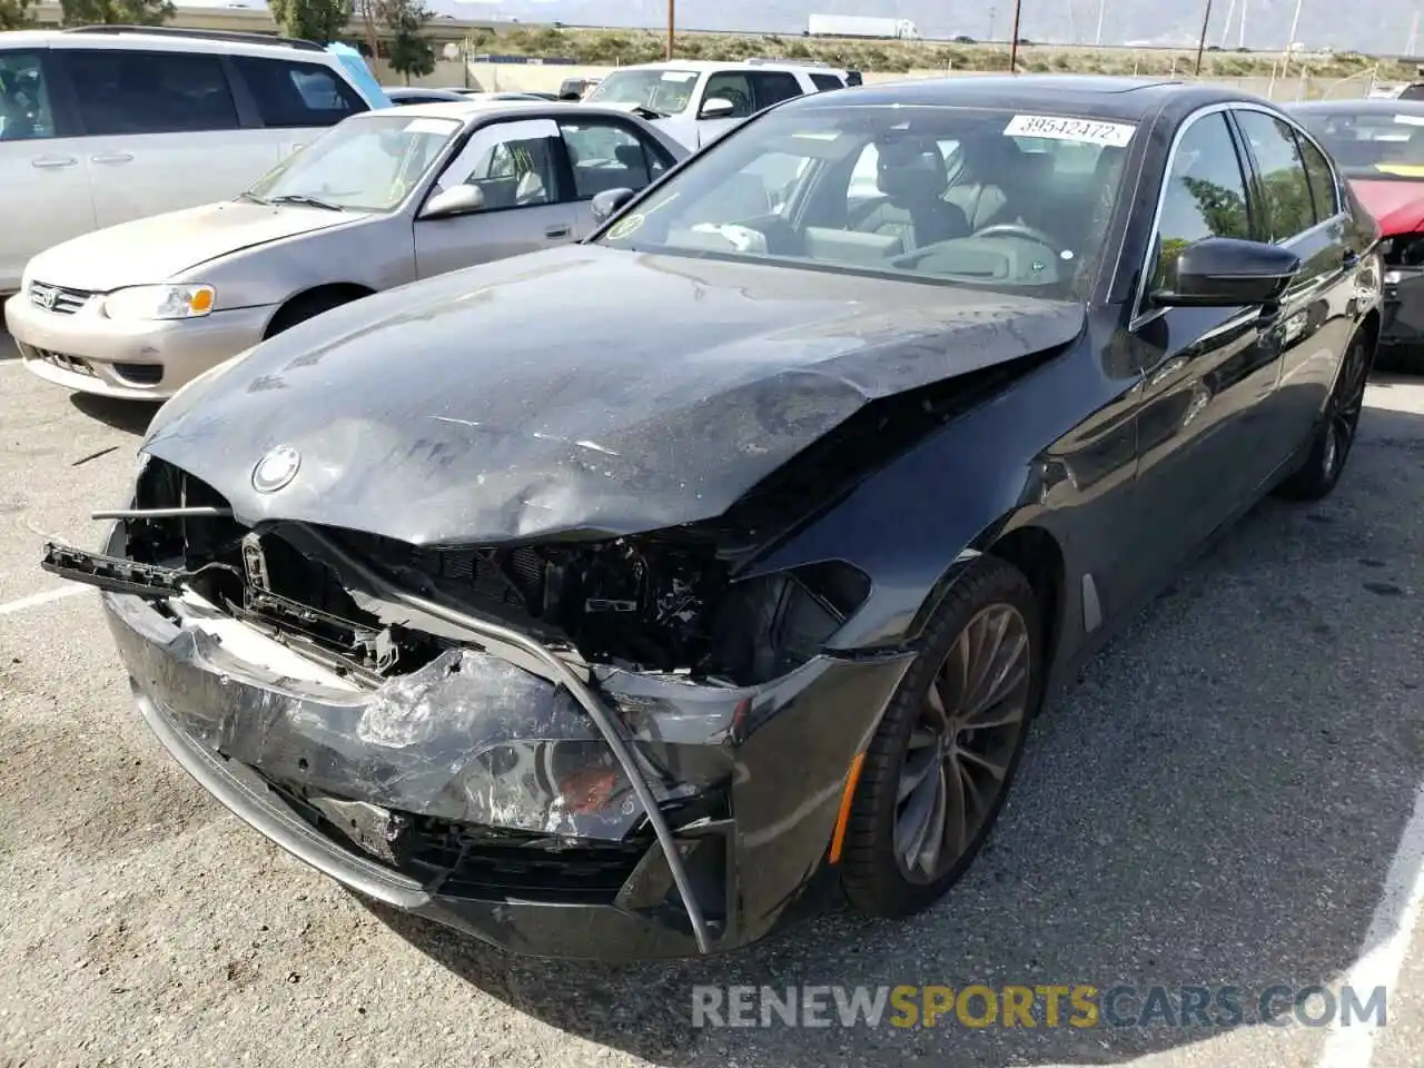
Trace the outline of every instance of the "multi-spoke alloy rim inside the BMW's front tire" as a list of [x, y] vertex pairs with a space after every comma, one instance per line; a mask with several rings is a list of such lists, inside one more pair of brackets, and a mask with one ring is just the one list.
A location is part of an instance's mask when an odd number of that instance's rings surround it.
[[934, 883], [970, 850], [1005, 787], [1027, 729], [1028, 624], [991, 604], [960, 631], [934, 674], [896, 792], [894, 854], [911, 883]]

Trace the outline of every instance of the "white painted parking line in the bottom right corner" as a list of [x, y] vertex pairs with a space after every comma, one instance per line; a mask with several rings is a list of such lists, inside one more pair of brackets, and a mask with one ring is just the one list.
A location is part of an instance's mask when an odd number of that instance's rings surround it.
[[[1364, 933], [1360, 960], [1344, 978], [1361, 1004], [1376, 987], [1384, 987], [1388, 998], [1397, 997], [1394, 984], [1400, 977], [1414, 924], [1418, 923], [1421, 904], [1424, 904], [1424, 786], [1414, 795], [1414, 813], [1404, 826], [1400, 847], [1384, 876], [1384, 894], [1374, 909], [1370, 930]], [[1320, 1057], [1320, 1068], [1370, 1068], [1378, 1030], [1373, 1020], [1368, 1022], [1354, 1020], [1350, 1027], [1341, 1027], [1337, 1012]]]

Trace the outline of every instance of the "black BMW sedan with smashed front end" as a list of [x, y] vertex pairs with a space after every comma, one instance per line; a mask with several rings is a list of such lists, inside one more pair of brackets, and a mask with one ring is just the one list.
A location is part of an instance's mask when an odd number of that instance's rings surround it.
[[1374, 226], [1265, 101], [807, 95], [600, 209], [209, 372], [46, 550], [204, 787], [515, 951], [928, 907], [1045, 696], [1354, 440]]

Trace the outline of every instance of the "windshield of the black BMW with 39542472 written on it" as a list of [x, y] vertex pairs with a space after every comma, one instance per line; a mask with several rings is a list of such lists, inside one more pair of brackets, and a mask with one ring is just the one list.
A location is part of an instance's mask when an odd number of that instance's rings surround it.
[[1134, 132], [1005, 110], [782, 108], [706, 150], [598, 241], [1077, 298], [1102, 256]]

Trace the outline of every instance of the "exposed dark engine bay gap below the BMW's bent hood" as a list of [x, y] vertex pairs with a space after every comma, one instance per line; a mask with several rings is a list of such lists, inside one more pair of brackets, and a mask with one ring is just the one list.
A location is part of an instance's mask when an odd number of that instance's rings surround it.
[[253, 530], [211, 487], [161, 460], [140, 477], [134, 511], [128, 561], [181, 571], [235, 618], [365, 685], [419, 669], [450, 641], [359, 604], [342, 558], [587, 664], [723, 685], [806, 662], [869, 594], [864, 575], [843, 564], [733, 581], [718, 531], [692, 527], [450, 550], [302, 524]]

